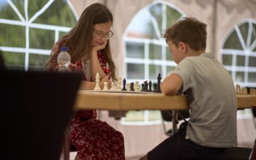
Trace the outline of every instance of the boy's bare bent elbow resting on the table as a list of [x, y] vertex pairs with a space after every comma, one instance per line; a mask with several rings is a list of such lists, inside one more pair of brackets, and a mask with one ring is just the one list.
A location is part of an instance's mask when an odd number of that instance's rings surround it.
[[170, 74], [161, 84], [161, 91], [165, 95], [176, 95], [182, 87], [182, 79], [178, 74]]

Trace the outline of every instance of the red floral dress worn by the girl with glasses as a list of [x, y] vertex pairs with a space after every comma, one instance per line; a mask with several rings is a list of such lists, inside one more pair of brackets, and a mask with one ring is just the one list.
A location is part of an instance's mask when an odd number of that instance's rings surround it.
[[[110, 74], [102, 52], [98, 52], [102, 70]], [[82, 70], [81, 61], [77, 61], [77, 70]], [[88, 70], [90, 72], [90, 70]], [[83, 76], [84, 81], [86, 77]], [[96, 119], [96, 110], [77, 111], [71, 120], [71, 142], [77, 148], [77, 154], [84, 160], [122, 160], [125, 159], [124, 137], [106, 122]]]

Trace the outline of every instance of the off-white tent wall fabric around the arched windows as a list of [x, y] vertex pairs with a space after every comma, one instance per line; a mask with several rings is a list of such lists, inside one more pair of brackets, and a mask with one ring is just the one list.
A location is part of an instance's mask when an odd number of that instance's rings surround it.
[[[156, 3], [152, 0], [105, 0], [105, 1], [86, 1], [72, 0], [72, 4], [80, 15], [84, 8], [89, 4], [99, 2], [106, 4], [114, 17], [113, 36], [111, 46], [113, 56], [115, 57], [116, 67], [120, 77], [124, 72], [124, 33], [129, 23], [145, 6], [150, 3]], [[175, 8], [179, 8], [188, 17], [195, 17], [207, 24], [207, 52], [213, 52], [221, 59], [223, 44], [232, 31], [243, 22], [253, 22], [256, 20], [256, 1], [255, 0], [168, 0], [158, 1], [161, 3], [170, 3]], [[256, 28], [255, 28], [256, 29]], [[255, 34], [255, 33], [253, 33]], [[253, 41], [253, 40], [252, 40]], [[254, 40], [256, 43], [256, 40]], [[123, 132], [125, 137], [125, 155], [127, 157], [136, 157], [145, 154], [148, 150], [164, 140], [164, 132], [161, 124], [156, 125], [120, 125], [119, 122], [107, 118], [108, 115], [102, 113], [101, 118], [106, 118], [111, 125]], [[255, 140], [256, 131], [250, 119], [239, 120], [238, 141], [239, 145], [249, 146]], [[248, 123], [248, 124], [245, 124]], [[245, 125], [246, 132], [243, 130]], [[250, 131], [249, 131], [250, 130]]]

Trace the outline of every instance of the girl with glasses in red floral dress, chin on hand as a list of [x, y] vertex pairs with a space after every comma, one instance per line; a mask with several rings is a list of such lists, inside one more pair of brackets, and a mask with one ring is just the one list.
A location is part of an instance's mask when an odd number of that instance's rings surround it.
[[[105, 5], [88, 6], [76, 26], [54, 46], [47, 63], [49, 70], [58, 70], [57, 57], [61, 46], [66, 46], [71, 57], [70, 67], [83, 72], [82, 90], [93, 90], [97, 72], [100, 86], [110, 78], [116, 80], [108, 42], [113, 36], [112, 24], [113, 15]], [[78, 111], [72, 118], [71, 142], [77, 148], [76, 160], [125, 159], [122, 133], [96, 117], [96, 110], [86, 110]]]

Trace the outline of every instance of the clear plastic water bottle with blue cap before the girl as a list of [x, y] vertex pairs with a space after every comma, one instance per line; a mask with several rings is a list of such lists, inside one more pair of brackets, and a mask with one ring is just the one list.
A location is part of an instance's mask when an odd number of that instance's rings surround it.
[[61, 52], [57, 58], [59, 69], [58, 72], [68, 72], [68, 65], [70, 64], [70, 55], [68, 54], [68, 47], [61, 47]]

